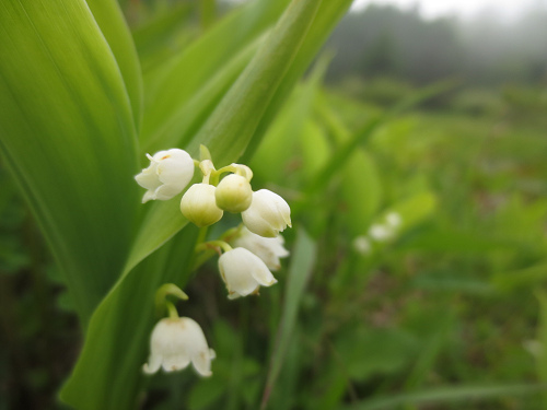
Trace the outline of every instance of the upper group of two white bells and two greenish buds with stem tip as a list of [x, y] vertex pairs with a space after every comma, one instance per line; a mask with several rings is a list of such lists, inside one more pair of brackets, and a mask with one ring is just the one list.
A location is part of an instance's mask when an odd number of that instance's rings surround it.
[[[150, 165], [135, 177], [141, 187], [148, 189], [142, 202], [177, 196], [189, 184], [195, 166], [198, 166], [202, 181], [194, 184], [181, 200], [181, 212], [188, 221], [202, 227], [220, 221], [224, 211], [241, 213], [245, 226], [264, 237], [276, 237], [291, 226], [291, 209], [283, 198], [267, 189], [253, 191], [253, 172], [248, 166], [231, 164], [216, 169], [206, 152], [202, 161], [191, 159], [179, 149], [147, 155]], [[219, 180], [226, 173], [229, 175]]]

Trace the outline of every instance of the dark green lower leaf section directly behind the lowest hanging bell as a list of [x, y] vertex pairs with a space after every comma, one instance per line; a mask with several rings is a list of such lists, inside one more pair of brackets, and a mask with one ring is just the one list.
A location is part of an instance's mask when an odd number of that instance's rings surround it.
[[[85, 345], [61, 399], [77, 409], [132, 409], [143, 383], [154, 323], [154, 294], [191, 273], [198, 230], [188, 226], [119, 280], [91, 319]], [[183, 302], [184, 303], [184, 302]]]

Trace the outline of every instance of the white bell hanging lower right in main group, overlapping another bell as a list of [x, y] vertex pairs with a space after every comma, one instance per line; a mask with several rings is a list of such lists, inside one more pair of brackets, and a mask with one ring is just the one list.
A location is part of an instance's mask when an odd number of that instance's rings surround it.
[[256, 293], [258, 288], [271, 286], [276, 278], [266, 263], [251, 250], [235, 248], [219, 258], [219, 270], [226, 284], [228, 297], [236, 298]]

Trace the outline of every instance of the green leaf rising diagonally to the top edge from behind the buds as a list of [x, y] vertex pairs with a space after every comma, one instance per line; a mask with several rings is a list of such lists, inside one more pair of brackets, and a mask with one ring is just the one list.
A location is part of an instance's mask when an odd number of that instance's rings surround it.
[[243, 154], [295, 58], [319, 4], [317, 0], [291, 2], [253, 60], [191, 140], [190, 151], [197, 150], [199, 144], [211, 148], [214, 143], [214, 149], [211, 149], [213, 156], [217, 156], [216, 152], [235, 159]]

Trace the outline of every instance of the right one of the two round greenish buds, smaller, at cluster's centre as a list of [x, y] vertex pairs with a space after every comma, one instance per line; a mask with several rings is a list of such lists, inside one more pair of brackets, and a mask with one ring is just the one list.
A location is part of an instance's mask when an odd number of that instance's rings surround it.
[[247, 178], [230, 174], [225, 176], [214, 191], [217, 207], [232, 213], [245, 211], [253, 200], [253, 189]]

